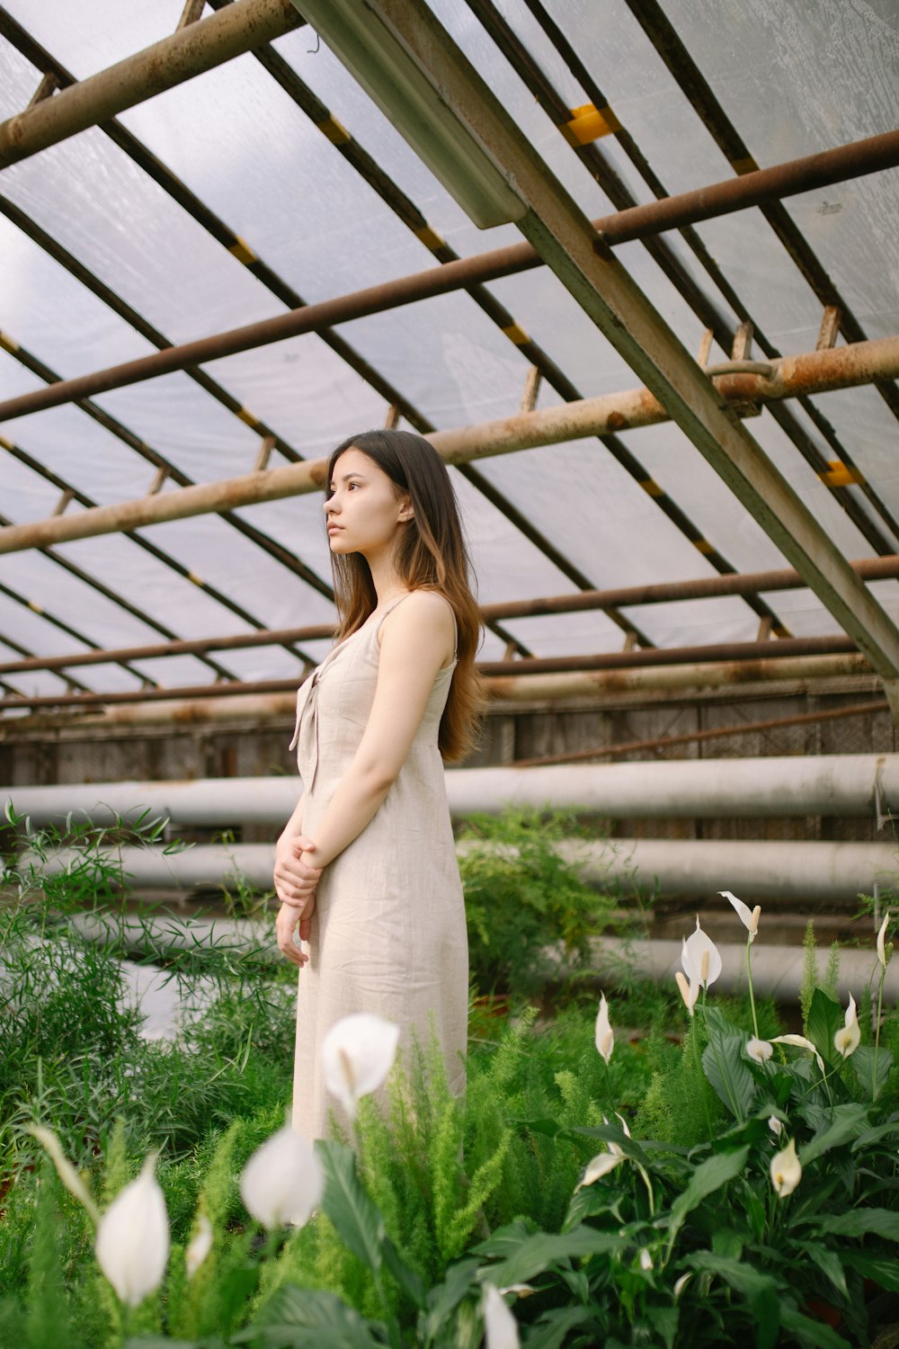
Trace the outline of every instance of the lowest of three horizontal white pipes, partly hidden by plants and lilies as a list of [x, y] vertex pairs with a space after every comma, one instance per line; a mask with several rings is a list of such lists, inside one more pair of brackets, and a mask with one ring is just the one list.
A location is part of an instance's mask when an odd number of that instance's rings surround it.
[[[241, 919], [175, 919], [113, 915], [75, 915], [74, 927], [94, 942], [112, 944], [135, 955], [160, 958], [168, 951], [197, 950], [214, 944], [220, 951], [228, 950], [237, 962], [241, 955], [253, 960], [279, 960], [280, 955], [274, 942], [274, 915], [259, 921]], [[736, 923], [736, 919], [735, 919]], [[764, 923], [764, 916], [763, 916]], [[685, 924], [685, 936], [689, 935]], [[880, 966], [873, 948], [873, 927], [869, 925], [869, 950], [849, 950], [840, 952], [840, 973], [837, 992], [841, 998], [852, 993], [861, 1001], [863, 990], [876, 983]], [[864, 939], [864, 938], [863, 938]], [[717, 942], [721, 955], [721, 975], [710, 990], [716, 993], [736, 993], [745, 989], [745, 943]], [[824, 974], [829, 952], [819, 952], [818, 967]], [[617, 982], [621, 965], [632, 969], [643, 979], [656, 983], [674, 983], [674, 971], [681, 969], [681, 942], [666, 940], [620, 940], [617, 938], [597, 938], [593, 942], [594, 973], [597, 979], [608, 978]], [[771, 994], [778, 1001], [788, 1002], [798, 997], [802, 986], [805, 950], [795, 946], [766, 946], [764, 931], [752, 948], [752, 982], [756, 993]], [[887, 966], [884, 981], [887, 1004], [899, 1001], [899, 958]], [[615, 1017], [615, 1000], [612, 1000]]]

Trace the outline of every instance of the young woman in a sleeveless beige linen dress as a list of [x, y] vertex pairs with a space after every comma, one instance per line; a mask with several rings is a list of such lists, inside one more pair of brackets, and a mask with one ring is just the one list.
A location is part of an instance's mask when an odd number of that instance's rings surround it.
[[[299, 689], [303, 795], [278, 840], [278, 944], [301, 967], [294, 1126], [325, 1136], [321, 1041], [350, 1012], [431, 1028], [465, 1081], [468, 942], [443, 759], [478, 711], [480, 616], [446, 468], [421, 436], [338, 445], [325, 498], [338, 643]], [[309, 943], [309, 954], [295, 942]]]

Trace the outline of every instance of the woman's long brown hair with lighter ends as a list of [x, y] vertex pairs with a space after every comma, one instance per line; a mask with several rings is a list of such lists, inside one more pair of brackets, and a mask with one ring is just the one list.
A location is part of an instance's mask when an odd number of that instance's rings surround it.
[[[328, 461], [325, 492], [330, 495], [334, 465], [345, 449], [360, 449], [373, 460], [412, 503], [395, 556], [396, 571], [410, 590], [433, 590], [456, 614], [457, 665], [441, 718], [438, 746], [447, 762], [465, 757], [474, 742], [483, 708], [474, 656], [481, 638], [481, 615], [472, 594], [472, 564], [462, 533], [458, 503], [446, 464], [434, 447], [408, 430], [367, 430], [350, 436]], [[334, 598], [342, 639], [363, 626], [377, 604], [372, 573], [361, 553], [332, 553]]]

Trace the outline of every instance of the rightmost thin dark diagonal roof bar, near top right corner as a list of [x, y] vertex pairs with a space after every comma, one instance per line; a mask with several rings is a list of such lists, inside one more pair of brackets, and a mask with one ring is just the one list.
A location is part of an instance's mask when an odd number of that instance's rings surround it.
[[[759, 166], [748, 146], [658, 0], [625, 0], [625, 3], [735, 173], [747, 174], [756, 170]], [[840, 332], [845, 340], [867, 341], [864, 328], [786, 208], [780, 202], [767, 202], [760, 209], [821, 304], [840, 310]], [[895, 382], [877, 380], [876, 389], [894, 417], [899, 418], [899, 389]]]

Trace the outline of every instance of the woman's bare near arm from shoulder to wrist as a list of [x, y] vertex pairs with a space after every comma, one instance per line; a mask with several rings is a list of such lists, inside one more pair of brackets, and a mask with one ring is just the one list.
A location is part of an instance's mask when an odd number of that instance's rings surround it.
[[446, 600], [414, 591], [385, 621], [375, 701], [356, 755], [315, 828], [302, 862], [328, 866], [357, 838], [406, 762], [441, 666], [453, 658], [454, 625]]

